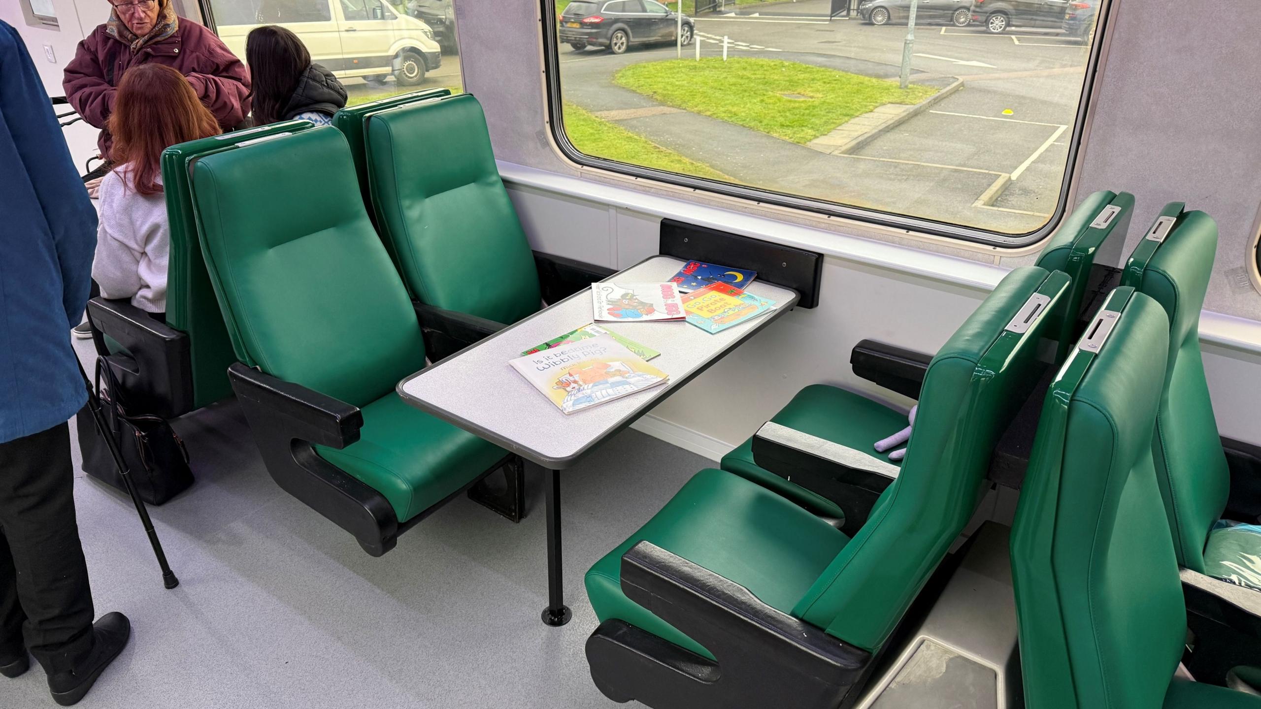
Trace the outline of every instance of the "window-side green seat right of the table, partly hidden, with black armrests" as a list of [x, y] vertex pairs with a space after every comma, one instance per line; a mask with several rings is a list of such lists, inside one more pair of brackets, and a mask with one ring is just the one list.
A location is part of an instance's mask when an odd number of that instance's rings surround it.
[[[1038, 256], [1038, 266], [1048, 271], [1064, 271], [1071, 279], [1066, 304], [1052, 315], [1052, 332], [1055, 333], [1053, 339], [1061, 343], [1061, 358], [1083, 327], [1084, 309], [1093, 302], [1087, 294], [1093, 295], [1095, 290], [1108, 281], [1108, 269], [1103, 265], [1121, 260], [1120, 249], [1132, 209], [1134, 196], [1127, 192], [1096, 192], [1064, 218], [1055, 236]], [[1100, 261], [1098, 265], [1096, 260]], [[929, 356], [873, 341], [860, 342], [850, 357], [855, 375], [912, 399], [919, 397], [929, 361]], [[876, 440], [907, 426], [904, 413], [860, 394], [826, 385], [803, 389], [770, 420], [873, 454], [875, 452], [871, 445]], [[900, 466], [895, 460], [890, 463]], [[835, 520], [844, 520], [846, 516], [847, 511], [842, 505], [803, 489], [754, 463], [753, 438], [724, 455], [719, 467], [767, 486], [817, 515]], [[870, 492], [856, 492], [856, 503], [870, 503]], [[863, 520], [846, 524], [850, 529], [856, 529]]]

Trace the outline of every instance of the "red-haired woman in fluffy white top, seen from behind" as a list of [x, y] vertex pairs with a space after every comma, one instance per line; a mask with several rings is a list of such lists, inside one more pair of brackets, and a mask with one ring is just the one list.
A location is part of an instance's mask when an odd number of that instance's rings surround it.
[[149, 63], [122, 74], [110, 132], [116, 167], [101, 180], [92, 278], [105, 298], [130, 298], [163, 320], [170, 222], [159, 160], [177, 143], [218, 135], [219, 124], [183, 74]]

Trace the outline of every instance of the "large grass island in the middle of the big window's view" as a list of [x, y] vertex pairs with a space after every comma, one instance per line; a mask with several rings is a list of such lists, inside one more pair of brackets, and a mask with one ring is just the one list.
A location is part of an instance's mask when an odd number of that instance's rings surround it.
[[[714, 57], [643, 62], [619, 71], [614, 83], [675, 106], [810, 143], [884, 103], [918, 103], [936, 88], [782, 59]], [[789, 97], [791, 96], [791, 97]]]

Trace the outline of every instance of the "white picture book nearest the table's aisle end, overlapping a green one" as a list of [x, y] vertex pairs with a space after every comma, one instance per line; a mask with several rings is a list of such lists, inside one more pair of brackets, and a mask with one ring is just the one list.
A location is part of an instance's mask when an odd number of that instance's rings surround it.
[[561, 413], [620, 399], [663, 384], [666, 372], [601, 334], [508, 362]]

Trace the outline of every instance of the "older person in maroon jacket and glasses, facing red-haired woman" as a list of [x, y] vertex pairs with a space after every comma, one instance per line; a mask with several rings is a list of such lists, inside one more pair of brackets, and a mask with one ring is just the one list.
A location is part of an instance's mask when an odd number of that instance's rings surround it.
[[175, 15], [171, 0], [110, 0], [110, 20], [97, 26], [66, 67], [62, 87], [71, 106], [101, 129], [97, 144], [108, 161], [106, 126], [122, 72], [158, 62], [188, 77], [219, 127], [230, 130], [250, 114], [250, 72], [204, 26]]

